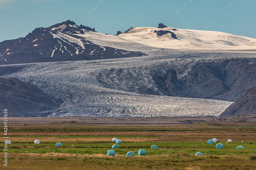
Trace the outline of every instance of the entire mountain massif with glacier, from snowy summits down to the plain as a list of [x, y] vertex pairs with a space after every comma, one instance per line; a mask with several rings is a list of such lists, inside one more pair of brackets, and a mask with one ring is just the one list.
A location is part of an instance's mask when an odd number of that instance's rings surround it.
[[16, 116], [218, 116], [256, 84], [255, 42], [163, 24], [117, 35], [69, 20], [37, 28], [0, 43], [9, 95], [0, 108], [12, 103]]

